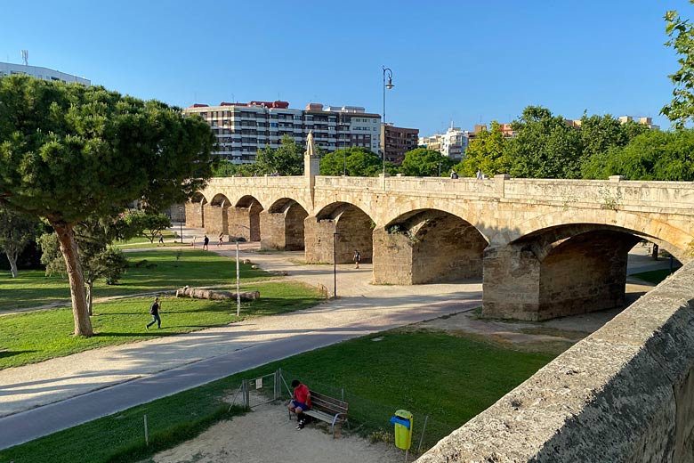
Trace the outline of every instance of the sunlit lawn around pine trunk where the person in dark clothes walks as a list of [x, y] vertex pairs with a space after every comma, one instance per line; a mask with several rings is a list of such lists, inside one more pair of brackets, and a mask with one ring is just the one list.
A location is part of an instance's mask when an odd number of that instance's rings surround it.
[[133, 297], [93, 307], [93, 337], [74, 337], [69, 307], [4, 315], [0, 317], [0, 370], [44, 361], [107, 345], [121, 345], [222, 326], [250, 317], [302, 310], [319, 303], [315, 288], [295, 282], [244, 284], [242, 291], [260, 291], [261, 298], [237, 301], [160, 297], [162, 328], [145, 330], [151, 321], [151, 297]]

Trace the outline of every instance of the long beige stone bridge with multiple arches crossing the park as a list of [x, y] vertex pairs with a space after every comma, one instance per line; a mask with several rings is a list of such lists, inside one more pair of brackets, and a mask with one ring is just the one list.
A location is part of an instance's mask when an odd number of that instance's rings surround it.
[[186, 205], [189, 226], [303, 249], [307, 262], [359, 249], [375, 284], [481, 278], [485, 315], [536, 321], [623, 305], [640, 240], [689, 262], [693, 218], [694, 183], [618, 176], [214, 178]]

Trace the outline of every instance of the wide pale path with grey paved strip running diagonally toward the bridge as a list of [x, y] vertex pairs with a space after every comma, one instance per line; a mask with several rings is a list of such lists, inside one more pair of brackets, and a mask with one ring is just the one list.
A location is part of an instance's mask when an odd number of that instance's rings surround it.
[[[331, 265], [295, 264], [302, 253], [254, 247], [244, 244], [242, 257], [332, 290]], [[210, 249], [235, 254], [229, 244]], [[481, 304], [480, 282], [372, 286], [370, 276], [370, 265], [338, 265], [339, 297], [311, 309], [0, 370], [0, 449], [269, 361]]]

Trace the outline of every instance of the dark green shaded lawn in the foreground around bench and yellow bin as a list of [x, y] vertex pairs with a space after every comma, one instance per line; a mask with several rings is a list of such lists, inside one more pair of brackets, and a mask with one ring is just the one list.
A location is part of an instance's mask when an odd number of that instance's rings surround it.
[[[414, 413], [413, 450], [429, 415], [423, 451], [529, 378], [553, 355], [521, 353], [431, 330], [394, 329], [274, 361], [110, 417], [45, 436], [5, 451], [0, 461], [138, 461], [182, 443], [207, 426], [232, 418], [224, 397], [242, 378], [282, 368], [288, 383], [301, 378], [314, 390], [350, 403], [351, 429], [392, 435], [399, 409]], [[284, 390], [284, 386], [283, 386]], [[285, 391], [286, 392], [286, 391]], [[142, 421], [147, 414], [149, 447]], [[243, 436], [229, 436], [230, 440]]]

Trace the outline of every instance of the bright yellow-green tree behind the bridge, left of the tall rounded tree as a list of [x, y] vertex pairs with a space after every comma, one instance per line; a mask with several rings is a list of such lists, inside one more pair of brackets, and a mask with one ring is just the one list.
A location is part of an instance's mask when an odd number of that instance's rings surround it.
[[484, 174], [494, 176], [509, 172], [508, 160], [504, 155], [506, 139], [501, 125], [491, 123], [491, 130], [477, 134], [465, 150], [465, 157], [454, 167], [459, 175], [473, 177], [480, 169]]

